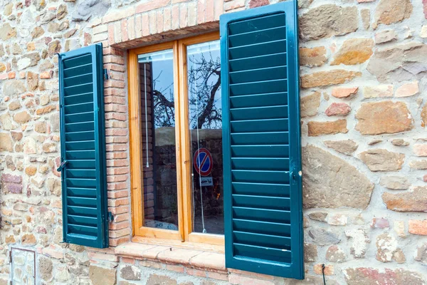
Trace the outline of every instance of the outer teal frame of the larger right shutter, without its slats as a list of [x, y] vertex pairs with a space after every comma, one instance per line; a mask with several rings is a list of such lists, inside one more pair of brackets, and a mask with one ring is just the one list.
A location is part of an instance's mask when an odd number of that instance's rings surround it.
[[[270, 14], [285, 13], [286, 58], [288, 68], [288, 131], [290, 172], [290, 246], [291, 262], [280, 262], [252, 257], [236, 257], [233, 246], [233, 196], [231, 189], [231, 114], [229, 78], [228, 24], [243, 19], [256, 19]], [[223, 104], [223, 173], [226, 267], [260, 274], [304, 279], [302, 228], [302, 175], [300, 150], [300, 78], [298, 61], [297, 1], [285, 1], [246, 11], [223, 14], [220, 17], [221, 34], [221, 89]], [[250, 44], [250, 43], [248, 43]]]

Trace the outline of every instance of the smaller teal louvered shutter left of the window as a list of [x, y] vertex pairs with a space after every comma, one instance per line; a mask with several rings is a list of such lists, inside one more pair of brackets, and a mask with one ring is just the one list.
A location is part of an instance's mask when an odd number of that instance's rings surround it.
[[102, 44], [59, 54], [63, 239], [108, 247]]

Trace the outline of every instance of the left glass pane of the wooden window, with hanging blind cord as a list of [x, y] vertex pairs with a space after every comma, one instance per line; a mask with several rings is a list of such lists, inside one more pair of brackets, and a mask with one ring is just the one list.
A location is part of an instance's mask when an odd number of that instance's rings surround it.
[[138, 56], [144, 226], [178, 230], [173, 51]]

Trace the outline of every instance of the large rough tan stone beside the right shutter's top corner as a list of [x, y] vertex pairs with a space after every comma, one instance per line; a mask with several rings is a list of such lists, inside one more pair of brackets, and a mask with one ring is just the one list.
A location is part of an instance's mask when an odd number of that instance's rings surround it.
[[300, 16], [300, 36], [303, 40], [342, 36], [356, 31], [358, 26], [356, 6], [327, 4], [310, 9]]

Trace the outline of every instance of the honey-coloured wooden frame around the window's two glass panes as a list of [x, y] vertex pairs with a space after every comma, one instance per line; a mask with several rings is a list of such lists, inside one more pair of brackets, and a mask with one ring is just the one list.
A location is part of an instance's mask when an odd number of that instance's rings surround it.
[[[185, 242], [186, 247], [195, 244], [210, 244], [223, 252], [224, 237], [220, 234], [192, 232], [191, 199], [191, 153], [188, 124], [187, 62], [186, 46], [207, 41], [216, 41], [219, 33], [184, 38], [178, 41], [159, 43], [153, 46], [131, 49], [127, 53], [129, 118], [130, 118], [130, 170], [132, 196], [132, 242], [170, 244]], [[174, 102], [176, 138], [176, 186], [178, 201], [178, 231], [144, 227], [144, 197], [142, 189], [142, 142], [141, 142], [141, 97], [139, 95], [139, 68], [137, 58], [142, 53], [172, 49], [174, 53]]]

